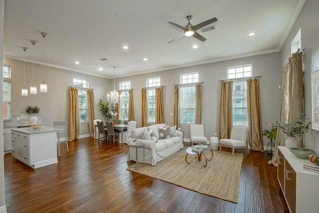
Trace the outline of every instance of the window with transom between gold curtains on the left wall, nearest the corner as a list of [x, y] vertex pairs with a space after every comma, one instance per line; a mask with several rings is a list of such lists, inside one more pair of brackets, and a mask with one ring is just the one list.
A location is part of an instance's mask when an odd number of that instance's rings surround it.
[[[89, 82], [86, 80], [73, 79], [73, 86], [88, 88]], [[87, 122], [88, 99], [85, 89], [78, 89], [79, 96], [79, 117], [80, 122]]]

